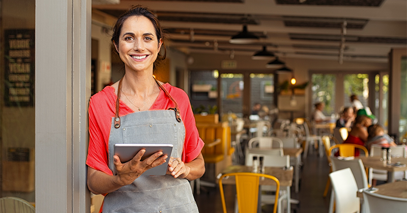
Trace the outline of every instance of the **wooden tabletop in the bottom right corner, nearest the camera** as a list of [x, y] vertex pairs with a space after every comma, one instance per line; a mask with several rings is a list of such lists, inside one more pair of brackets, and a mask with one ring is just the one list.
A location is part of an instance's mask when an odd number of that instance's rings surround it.
[[[375, 193], [385, 196], [407, 198], [407, 181], [401, 180], [397, 182], [388, 182], [387, 184], [382, 184], [376, 186], [379, 189]], [[363, 198], [363, 193], [358, 191], [358, 197]]]

